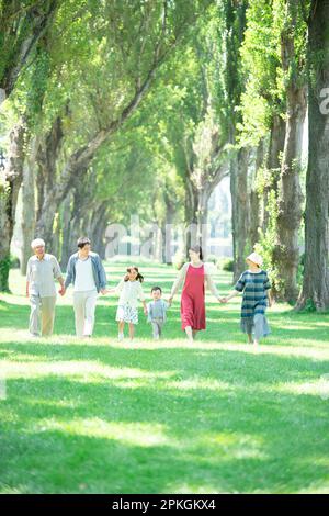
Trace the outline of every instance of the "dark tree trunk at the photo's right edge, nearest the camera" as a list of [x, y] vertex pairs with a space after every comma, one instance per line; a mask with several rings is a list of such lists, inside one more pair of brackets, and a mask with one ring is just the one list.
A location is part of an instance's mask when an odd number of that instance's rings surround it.
[[310, 301], [321, 312], [329, 309], [329, 0], [313, 0], [310, 12], [305, 271], [296, 307], [304, 309]]

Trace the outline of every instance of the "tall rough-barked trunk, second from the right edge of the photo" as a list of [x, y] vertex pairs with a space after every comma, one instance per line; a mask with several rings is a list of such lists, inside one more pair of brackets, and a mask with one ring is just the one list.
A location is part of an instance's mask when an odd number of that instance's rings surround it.
[[[299, 183], [303, 128], [306, 116], [306, 85], [303, 69], [296, 68], [296, 3], [287, 2], [287, 23], [282, 34], [282, 64], [290, 77], [286, 87], [286, 128], [277, 197], [276, 242], [273, 253], [282, 290], [281, 296], [294, 302], [298, 295], [298, 233], [302, 221], [303, 194]], [[305, 32], [306, 37], [306, 32]]]

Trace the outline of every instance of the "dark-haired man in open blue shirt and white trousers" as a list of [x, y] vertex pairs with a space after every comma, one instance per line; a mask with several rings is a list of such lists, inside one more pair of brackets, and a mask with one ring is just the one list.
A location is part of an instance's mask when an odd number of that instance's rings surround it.
[[89, 238], [79, 238], [77, 245], [78, 253], [70, 257], [67, 266], [65, 289], [73, 284], [77, 337], [91, 337], [98, 293], [107, 292], [106, 273], [99, 255], [91, 251]]

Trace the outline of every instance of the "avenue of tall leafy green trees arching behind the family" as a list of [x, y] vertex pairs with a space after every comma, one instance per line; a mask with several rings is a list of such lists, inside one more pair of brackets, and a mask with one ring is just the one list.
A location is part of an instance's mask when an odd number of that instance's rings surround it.
[[0, 0], [0, 290], [19, 194], [24, 273], [132, 213], [201, 236], [229, 176], [234, 277], [329, 309], [329, 0]]

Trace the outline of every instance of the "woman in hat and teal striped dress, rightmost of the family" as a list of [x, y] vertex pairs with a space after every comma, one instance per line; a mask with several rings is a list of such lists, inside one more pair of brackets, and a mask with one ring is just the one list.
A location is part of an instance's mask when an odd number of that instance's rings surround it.
[[241, 306], [241, 330], [248, 335], [249, 344], [258, 346], [261, 337], [271, 333], [265, 316], [266, 306], [272, 305], [271, 284], [268, 272], [261, 269], [262, 257], [252, 253], [246, 259], [249, 269], [242, 272], [239, 280], [226, 298], [222, 298], [227, 303], [239, 292], [243, 292]]

